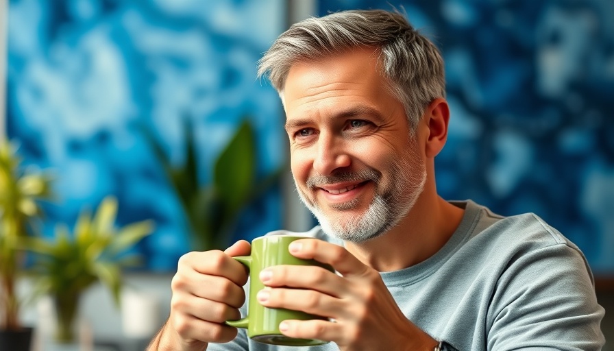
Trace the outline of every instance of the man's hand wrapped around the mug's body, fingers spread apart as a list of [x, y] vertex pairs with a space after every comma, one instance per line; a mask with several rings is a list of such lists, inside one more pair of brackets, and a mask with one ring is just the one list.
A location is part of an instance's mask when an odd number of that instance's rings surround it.
[[258, 293], [262, 305], [331, 319], [282, 322], [284, 335], [333, 341], [345, 351], [434, 350], [437, 346], [403, 315], [378, 271], [344, 247], [301, 239], [291, 244], [290, 252], [328, 263], [341, 276], [312, 266], [280, 265], [263, 271], [260, 279], [267, 288]]

